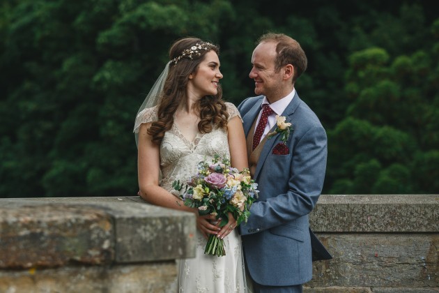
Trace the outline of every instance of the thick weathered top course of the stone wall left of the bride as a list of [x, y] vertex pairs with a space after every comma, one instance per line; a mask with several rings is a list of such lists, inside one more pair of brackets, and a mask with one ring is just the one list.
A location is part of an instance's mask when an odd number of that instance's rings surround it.
[[195, 216], [140, 197], [0, 200], [0, 269], [195, 255]]

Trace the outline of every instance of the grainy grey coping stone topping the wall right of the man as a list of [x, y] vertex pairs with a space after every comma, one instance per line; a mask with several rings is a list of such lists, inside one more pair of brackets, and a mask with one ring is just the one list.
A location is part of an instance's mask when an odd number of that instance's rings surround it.
[[438, 232], [438, 211], [439, 195], [321, 195], [309, 223], [314, 232]]

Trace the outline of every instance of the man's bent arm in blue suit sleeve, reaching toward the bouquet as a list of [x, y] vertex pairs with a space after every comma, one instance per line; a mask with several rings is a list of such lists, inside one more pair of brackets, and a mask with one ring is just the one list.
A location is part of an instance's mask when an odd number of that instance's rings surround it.
[[[325, 178], [327, 158], [327, 137], [321, 125], [311, 127], [298, 143], [289, 146], [293, 149], [289, 166], [288, 188], [276, 188], [279, 178], [260, 178], [259, 184], [271, 184], [275, 193], [261, 202], [254, 202], [250, 208], [250, 216], [241, 228], [241, 234], [253, 234], [282, 225], [307, 215], [314, 209], [321, 195]], [[263, 168], [278, 167], [265, 161]], [[285, 167], [285, 169], [288, 166]], [[265, 174], [270, 174], [265, 170]], [[262, 170], [261, 170], [262, 172]], [[288, 175], [287, 175], [288, 176]], [[281, 183], [277, 185], [281, 186]], [[267, 188], [265, 188], [266, 190]], [[265, 191], [267, 192], [267, 191]]]

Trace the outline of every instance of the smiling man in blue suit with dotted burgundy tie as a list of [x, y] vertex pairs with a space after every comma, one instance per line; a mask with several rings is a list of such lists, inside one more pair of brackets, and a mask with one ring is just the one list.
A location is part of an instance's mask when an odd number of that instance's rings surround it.
[[249, 77], [259, 96], [238, 107], [250, 172], [260, 191], [248, 222], [240, 226], [247, 273], [256, 293], [302, 292], [302, 283], [312, 277], [313, 253], [330, 258], [308, 222], [323, 188], [326, 133], [294, 88], [307, 68], [296, 40], [277, 33], [261, 36], [252, 64]]

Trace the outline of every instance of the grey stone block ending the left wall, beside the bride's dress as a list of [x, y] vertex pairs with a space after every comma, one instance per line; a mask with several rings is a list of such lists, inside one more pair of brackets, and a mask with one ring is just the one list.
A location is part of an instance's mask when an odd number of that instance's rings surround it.
[[[116, 262], [174, 260], [195, 256], [195, 216], [150, 204], [113, 213]], [[135, 212], [134, 212], [135, 207]], [[128, 211], [128, 213], [127, 213]]]

